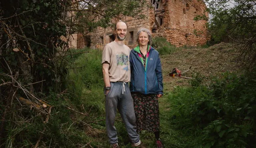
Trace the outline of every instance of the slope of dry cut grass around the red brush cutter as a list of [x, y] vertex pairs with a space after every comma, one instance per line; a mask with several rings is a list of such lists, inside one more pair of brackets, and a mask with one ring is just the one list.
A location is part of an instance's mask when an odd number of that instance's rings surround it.
[[180, 71], [191, 69], [182, 76], [193, 77], [200, 73], [204, 82], [210, 82], [211, 75], [221, 77], [226, 71], [239, 72], [237, 56], [239, 52], [231, 43], [219, 43], [209, 48], [179, 48], [170, 55], [161, 56], [164, 92], [168, 92], [177, 86], [188, 86], [189, 79], [170, 77], [168, 74], [173, 68]]

